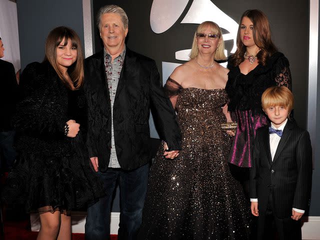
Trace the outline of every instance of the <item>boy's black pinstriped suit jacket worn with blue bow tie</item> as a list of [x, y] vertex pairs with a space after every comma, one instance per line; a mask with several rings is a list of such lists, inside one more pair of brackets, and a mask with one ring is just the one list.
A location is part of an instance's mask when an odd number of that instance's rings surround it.
[[288, 217], [292, 207], [308, 208], [312, 176], [312, 150], [309, 133], [288, 119], [271, 160], [268, 125], [256, 131], [250, 198], [258, 198], [259, 214], [266, 211], [273, 195], [273, 214]]

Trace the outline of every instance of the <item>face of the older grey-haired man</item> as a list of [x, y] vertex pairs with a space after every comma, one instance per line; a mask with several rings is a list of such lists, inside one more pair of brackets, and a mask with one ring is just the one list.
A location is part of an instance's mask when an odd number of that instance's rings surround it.
[[117, 13], [104, 13], [101, 16], [100, 37], [105, 50], [122, 50], [128, 29], [124, 28], [121, 16]]

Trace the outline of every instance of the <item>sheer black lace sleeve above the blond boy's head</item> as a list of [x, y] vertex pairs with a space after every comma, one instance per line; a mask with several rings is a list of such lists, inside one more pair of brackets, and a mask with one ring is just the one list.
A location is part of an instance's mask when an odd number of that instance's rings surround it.
[[280, 57], [275, 63], [274, 80], [277, 86], [286, 86], [292, 90], [289, 61], [285, 56]]

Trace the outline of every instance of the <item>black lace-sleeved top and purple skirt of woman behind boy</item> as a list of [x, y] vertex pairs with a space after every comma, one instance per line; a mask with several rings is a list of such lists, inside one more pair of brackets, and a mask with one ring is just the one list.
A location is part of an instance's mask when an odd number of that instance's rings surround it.
[[225, 86], [228, 110], [232, 120], [237, 122], [228, 161], [240, 167], [251, 167], [256, 129], [269, 123], [261, 108], [261, 95], [273, 85], [291, 89], [289, 62], [282, 53], [275, 52], [265, 65], [257, 65], [246, 75], [230, 62], [227, 67], [230, 69]]

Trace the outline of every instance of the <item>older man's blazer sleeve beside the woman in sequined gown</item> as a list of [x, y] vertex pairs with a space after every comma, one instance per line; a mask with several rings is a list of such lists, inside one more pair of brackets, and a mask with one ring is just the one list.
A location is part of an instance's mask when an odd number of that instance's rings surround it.
[[160, 137], [167, 143], [169, 150], [181, 149], [181, 136], [175, 111], [165, 95], [159, 72], [154, 61], [150, 68], [150, 101], [153, 119]]

